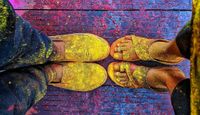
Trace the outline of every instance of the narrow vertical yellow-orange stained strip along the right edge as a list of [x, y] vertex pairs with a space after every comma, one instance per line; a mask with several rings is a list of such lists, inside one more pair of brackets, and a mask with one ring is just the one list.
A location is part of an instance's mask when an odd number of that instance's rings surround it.
[[193, 0], [193, 40], [191, 48], [191, 114], [200, 114], [200, 0]]

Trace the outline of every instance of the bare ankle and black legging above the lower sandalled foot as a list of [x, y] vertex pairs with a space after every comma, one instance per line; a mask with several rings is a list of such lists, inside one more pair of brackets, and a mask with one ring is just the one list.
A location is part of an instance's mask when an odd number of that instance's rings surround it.
[[176, 115], [190, 114], [190, 80], [186, 79], [179, 69], [154, 68], [150, 69], [147, 75], [147, 82], [151, 87], [163, 85], [168, 88]]

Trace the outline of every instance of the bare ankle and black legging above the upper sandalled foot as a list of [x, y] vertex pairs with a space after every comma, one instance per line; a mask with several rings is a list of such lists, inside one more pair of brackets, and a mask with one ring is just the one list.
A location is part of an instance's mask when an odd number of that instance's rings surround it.
[[[188, 22], [183, 29], [178, 33], [176, 39], [162, 45], [162, 49], [159, 47], [159, 42], [155, 42], [150, 47], [150, 53], [153, 57], [159, 59], [159, 55], [174, 55], [174, 57], [190, 58], [190, 47], [192, 38], [191, 23]], [[154, 49], [157, 49], [156, 51]]]

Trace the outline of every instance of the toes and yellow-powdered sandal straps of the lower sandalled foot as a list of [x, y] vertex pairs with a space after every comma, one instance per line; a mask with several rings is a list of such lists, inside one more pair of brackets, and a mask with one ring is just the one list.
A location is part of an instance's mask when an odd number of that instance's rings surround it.
[[150, 68], [128, 62], [113, 62], [108, 74], [117, 85], [128, 88], [147, 88], [146, 77]]

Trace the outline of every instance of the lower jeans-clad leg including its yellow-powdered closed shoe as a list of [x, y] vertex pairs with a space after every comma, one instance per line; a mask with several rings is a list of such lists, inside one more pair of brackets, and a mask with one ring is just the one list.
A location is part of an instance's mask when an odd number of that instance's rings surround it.
[[21, 115], [43, 98], [48, 83], [91, 91], [106, 82], [107, 72], [98, 64], [71, 62], [8, 70], [0, 78], [0, 113]]

